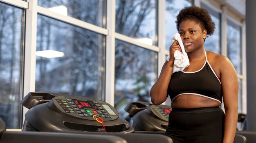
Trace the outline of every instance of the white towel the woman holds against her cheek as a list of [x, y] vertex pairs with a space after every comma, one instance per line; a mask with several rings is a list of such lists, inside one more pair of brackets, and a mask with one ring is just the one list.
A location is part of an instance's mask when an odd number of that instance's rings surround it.
[[[171, 40], [173, 42], [178, 41], [179, 45], [180, 45], [180, 48], [181, 48], [181, 51], [182, 51], [182, 53], [178, 50], [174, 52], [174, 58], [175, 59], [174, 59], [174, 63], [173, 63], [173, 73], [183, 71], [186, 67], [189, 66], [189, 57], [186, 54], [184, 45], [183, 45], [182, 40], [180, 38], [180, 34], [176, 33], [175, 35], [173, 35], [173, 38]], [[166, 59], [167, 59], [167, 61], [169, 61], [170, 55], [168, 55]]]

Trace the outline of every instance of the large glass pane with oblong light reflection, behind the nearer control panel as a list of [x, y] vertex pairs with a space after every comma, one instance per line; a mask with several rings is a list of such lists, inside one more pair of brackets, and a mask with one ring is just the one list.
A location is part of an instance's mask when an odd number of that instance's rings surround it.
[[105, 40], [103, 35], [38, 15], [36, 91], [104, 100]]

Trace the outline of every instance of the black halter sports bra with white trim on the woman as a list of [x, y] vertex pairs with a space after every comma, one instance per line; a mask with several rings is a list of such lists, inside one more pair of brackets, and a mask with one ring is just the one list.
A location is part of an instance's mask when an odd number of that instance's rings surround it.
[[210, 98], [222, 104], [221, 82], [208, 62], [206, 52], [205, 58], [204, 65], [196, 72], [173, 73], [168, 85], [168, 95], [171, 100], [179, 95], [192, 94]]

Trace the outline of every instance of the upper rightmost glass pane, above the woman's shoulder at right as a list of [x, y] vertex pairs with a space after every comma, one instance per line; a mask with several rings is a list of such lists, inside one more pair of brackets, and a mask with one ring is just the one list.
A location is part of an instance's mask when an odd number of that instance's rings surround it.
[[241, 28], [227, 20], [227, 56], [234, 65], [237, 74], [241, 73]]

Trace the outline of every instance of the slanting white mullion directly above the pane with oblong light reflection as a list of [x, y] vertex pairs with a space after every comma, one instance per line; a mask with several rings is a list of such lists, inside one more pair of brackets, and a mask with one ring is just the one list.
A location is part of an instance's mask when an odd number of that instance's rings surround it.
[[75, 19], [75, 18], [70, 17], [70, 16], [65, 16], [65, 15], [55, 13], [55, 12], [50, 11], [49, 9], [46, 9], [44, 7], [41, 7], [41, 6], [37, 6], [37, 10], [38, 10], [39, 14], [54, 18], [56, 20], [60, 20], [62, 22], [66, 22], [68, 24], [72, 24], [72, 25], [75, 25], [75, 26], [79, 26], [81, 28], [85, 28], [85, 29], [91, 30], [93, 32], [97, 32], [99, 34], [108, 35], [108, 30], [105, 29], [105, 28], [101, 28], [99, 26], [84, 22], [82, 20]]

